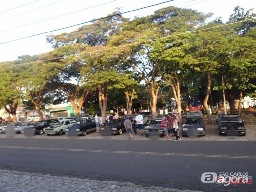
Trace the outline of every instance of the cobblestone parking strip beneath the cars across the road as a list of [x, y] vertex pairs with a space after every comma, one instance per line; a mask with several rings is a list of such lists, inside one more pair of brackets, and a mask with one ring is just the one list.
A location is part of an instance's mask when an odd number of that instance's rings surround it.
[[[245, 125], [246, 127], [246, 136], [219, 136], [218, 135], [218, 127], [217, 125], [206, 125], [206, 135], [200, 137], [181, 137], [182, 141], [256, 141], [256, 125]], [[180, 134], [181, 136], [181, 126], [180, 126]], [[7, 134], [0, 134], [0, 138], [8, 137]], [[25, 134], [15, 134], [13, 137], [15, 138], [26, 138]], [[47, 136], [43, 135], [35, 135], [33, 138], [44, 138], [44, 139], [68, 139], [67, 134], [59, 135], [51, 135]], [[113, 140], [126, 140], [128, 139], [128, 134], [123, 133], [122, 135], [113, 135], [110, 137], [103, 137], [100, 133], [87, 133], [86, 136], [76, 137], [77, 139], [113, 139]], [[133, 140], [161, 140], [164, 141], [163, 137], [160, 138], [150, 138], [145, 136], [139, 136], [139, 134], [133, 134]], [[172, 141], [175, 140], [175, 137], [172, 137]]]

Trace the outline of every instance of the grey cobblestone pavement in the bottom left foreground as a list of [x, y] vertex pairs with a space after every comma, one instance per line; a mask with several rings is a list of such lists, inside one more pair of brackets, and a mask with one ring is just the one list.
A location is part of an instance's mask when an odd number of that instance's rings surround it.
[[1, 192], [199, 192], [0, 169]]

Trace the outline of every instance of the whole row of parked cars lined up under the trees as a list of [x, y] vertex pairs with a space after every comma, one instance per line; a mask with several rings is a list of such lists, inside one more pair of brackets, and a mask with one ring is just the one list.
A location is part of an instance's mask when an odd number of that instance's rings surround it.
[[[133, 116], [133, 114], [130, 114]], [[143, 115], [142, 115], [143, 116]], [[145, 115], [144, 115], [145, 116]], [[163, 136], [163, 130], [161, 129], [161, 118], [144, 117], [143, 123], [145, 123], [144, 134], [146, 136]], [[165, 116], [165, 115], [164, 115]], [[121, 135], [126, 131], [124, 121], [129, 117], [126, 115], [125, 118], [113, 119], [108, 124], [104, 125], [101, 129], [103, 135], [119, 134]], [[187, 117], [182, 124], [181, 133], [182, 136], [204, 136], [206, 134], [205, 124], [201, 111], [191, 111], [187, 113]], [[167, 118], [168, 124], [168, 118]], [[73, 118], [51, 118], [43, 121], [26, 121], [16, 122], [11, 126], [0, 127], [0, 133], [6, 133], [6, 129], [13, 128], [15, 133], [25, 133], [27, 129], [33, 129], [35, 134], [46, 133], [50, 135], [62, 135], [68, 133], [73, 135], [85, 136], [89, 132], [95, 131], [94, 117], [81, 117], [78, 121]], [[245, 125], [243, 120], [238, 115], [222, 115], [219, 119], [218, 124], [219, 135], [246, 135]]]

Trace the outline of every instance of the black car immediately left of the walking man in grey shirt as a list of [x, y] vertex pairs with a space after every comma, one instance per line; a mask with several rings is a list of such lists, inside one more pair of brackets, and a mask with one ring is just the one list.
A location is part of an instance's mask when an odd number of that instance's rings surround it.
[[102, 135], [107, 136], [110, 134], [119, 134], [121, 135], [124, 131], [126, 131], [124, 127], [124, 121], [127, 118], [120, 118], [120, 119], [112, 119], [109, 123], [101, 128]]

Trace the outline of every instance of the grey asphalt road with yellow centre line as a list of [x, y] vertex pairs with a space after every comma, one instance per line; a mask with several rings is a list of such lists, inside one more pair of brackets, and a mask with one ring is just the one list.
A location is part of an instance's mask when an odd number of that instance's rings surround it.
[[[256, 191], [256, 143], [1, 138], [0, 168], [199, 191]], [[202, 183], [204, 172], [248, 172], [252, 184]]]

